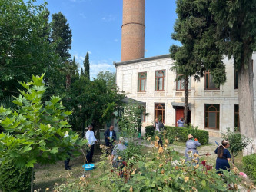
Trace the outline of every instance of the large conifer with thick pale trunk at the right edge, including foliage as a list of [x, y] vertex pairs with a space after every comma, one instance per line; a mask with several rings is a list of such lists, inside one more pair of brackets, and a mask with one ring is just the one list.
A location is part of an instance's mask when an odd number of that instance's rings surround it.
[[[196, 2], [198, 12], [201, 12], [204, 18], [215, 22], [215, 25], [208, 25], [208, 20], [206, 21], [207, 31], [198, 42], [197, 49], [198, 54], [202, 56], [201, 59], [214, 58], [221, 61], [219, 54], [234, 59], [234, 69], [238, 71], [241, 134], [254, 140], [254, 143], [249, 144], [244, 150], [244, 155], [251, 154], [256, 151], [254, 75], [251, 65], [251, 55], [256, 50], [256, 2], [228, 0]], [[218, 48], [219, 51], [212, 52], [208, 49], [212, 47]], [[221, 71], [216, 74], [221, 75]]]

